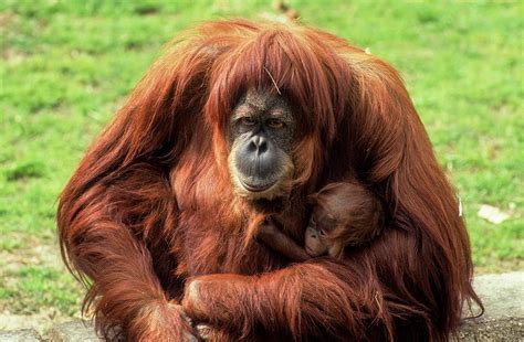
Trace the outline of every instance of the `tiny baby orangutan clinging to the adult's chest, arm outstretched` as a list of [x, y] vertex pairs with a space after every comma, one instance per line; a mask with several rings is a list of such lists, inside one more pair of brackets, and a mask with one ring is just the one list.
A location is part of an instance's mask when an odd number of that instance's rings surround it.
[[310, 196], [313, 213], [305, 231], [304, 247], [266, 218], [256, 238], [293, 261], [329, 255], [342, 258], [346, 246], [358, 246], [371, 241], [382, 227], [379, 200], [358, 183], [329, 183]]

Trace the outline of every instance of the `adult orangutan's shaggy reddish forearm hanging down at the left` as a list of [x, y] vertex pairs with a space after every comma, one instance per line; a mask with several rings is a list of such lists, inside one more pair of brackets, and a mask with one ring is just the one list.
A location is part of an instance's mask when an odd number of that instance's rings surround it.
[[[146, 168], [135, 170], [126, 180], [142, 186], [137, 180], [144, 179], [144, 174], [156, 175], [154, 170]], [[165, 293], [146, 243], [126, 226], [125, 220], [112, 217], [108, 211], [109, 203], [158, 206], [163, 202], [167, 203], [164, 210], [168, 211], [170, 202], [164, 201], [163, 196], [166, 190], [158, 183], [156, 191], [150, 193], [155, 197], [139, 196], [132, 186], [125, 190], [118, 183], [111, 190], [95, 184], [75, 201], [64, 193], [63, 199], [67, 201], [61, 203], [59, 211], [60, 241], [66, 260], [80, 277], [91, 280], [84, 302], [95, 316], [97, 330], [112, 339], [116, 329], [128, 341], [190, 340], [193, 329], [185, 319], [181, 307]], [[94, 195], [98, 195], [97, 202], [93, 201]], [[147, 205], [140, 209], [150, 211]], [[158, 226], [161, 221], [150, 224]]]

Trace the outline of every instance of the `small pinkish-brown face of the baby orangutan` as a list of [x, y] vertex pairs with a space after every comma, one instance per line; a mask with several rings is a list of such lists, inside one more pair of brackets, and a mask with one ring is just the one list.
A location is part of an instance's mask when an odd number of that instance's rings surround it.
[[333, 247], [328, 234], [336, 226], [333, 218], [324, 209], [315, 206], [311, 215], [310, 224], [305, 231], [304, 248], [312, 257], [327, 254]]

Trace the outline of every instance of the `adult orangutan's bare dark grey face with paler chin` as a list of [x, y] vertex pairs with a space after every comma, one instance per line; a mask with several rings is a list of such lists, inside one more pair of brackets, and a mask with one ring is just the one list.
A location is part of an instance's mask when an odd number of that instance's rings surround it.
[[284, 97], [250, 90], [230, 120], [230, 170], [244, 193], [271, 197], [290, 177], [295, 120]]

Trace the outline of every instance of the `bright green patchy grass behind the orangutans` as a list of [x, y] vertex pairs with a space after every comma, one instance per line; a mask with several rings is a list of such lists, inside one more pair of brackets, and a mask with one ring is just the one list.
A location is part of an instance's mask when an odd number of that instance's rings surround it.
[[[523, 268], [522, 6], [290, 3], [401, 71], [462, 197], [478, 269]], [[163, 44], [231, 15], [276, 13], [271, 0], [0, 3], [0, 329], [77, 313], [82, 289], [57, 256], [57, 194]], [[510, 218], [483, 221], [481, 204]]]

